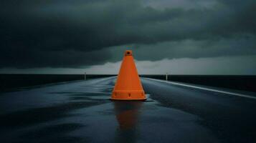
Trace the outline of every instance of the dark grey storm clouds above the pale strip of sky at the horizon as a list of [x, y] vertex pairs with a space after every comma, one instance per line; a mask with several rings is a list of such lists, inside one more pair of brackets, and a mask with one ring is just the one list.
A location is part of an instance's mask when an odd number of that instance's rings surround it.
[[[204, 6], [206, 1], [192, 7], [199, 2], [187, 0], [182, 7], [164, 1], [161, 9], [161, 1], [155, 7], [146, 0], [2, 0], [0, 67], [103, 64], [117, 60], [113, 46], [134, 44], [143, 51], [158, 44], [169, 51], [140, 52], [140, 60], [256, 54], [256, 2], [217, 0]], [[193, 51], [182, 46], [188, 40]], [[202, 44], [209, 50], [198, 54]]]

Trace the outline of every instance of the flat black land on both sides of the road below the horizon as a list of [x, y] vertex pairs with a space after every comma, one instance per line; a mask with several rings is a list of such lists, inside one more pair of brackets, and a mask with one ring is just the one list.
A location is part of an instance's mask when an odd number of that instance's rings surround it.
[[[115, 74], [87, 74], [87, 79], [112, 77]], [[153, 79], [166, 79], [166, 75], [141, 75]], [[57, 82], [69, 82], [85, 79], [84, 74], [0, 74], [0, 92]], [[226, 75], [169, 75], [174, 82], [202, 84], [212, 87], [256, 92], [256, 76], [226, 76]]]

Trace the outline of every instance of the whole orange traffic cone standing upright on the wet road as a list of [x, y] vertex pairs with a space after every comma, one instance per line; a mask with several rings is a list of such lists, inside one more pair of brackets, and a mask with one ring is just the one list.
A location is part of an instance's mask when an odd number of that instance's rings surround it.
[[116, 100], [145, 100], [146, 96], [141, 86], [141, 80], [138, 77], [138, 71], [133, 61], [131, 50], [125, 51], [123, 62], [120, 67], [118, 79], [115, 82], [115, 88], [111, 99]]

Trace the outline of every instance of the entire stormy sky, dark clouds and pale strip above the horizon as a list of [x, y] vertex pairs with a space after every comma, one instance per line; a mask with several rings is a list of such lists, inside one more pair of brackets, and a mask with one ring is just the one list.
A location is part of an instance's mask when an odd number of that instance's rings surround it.
[[256, 74], [255, 0], [1, 0], [0, 73]]

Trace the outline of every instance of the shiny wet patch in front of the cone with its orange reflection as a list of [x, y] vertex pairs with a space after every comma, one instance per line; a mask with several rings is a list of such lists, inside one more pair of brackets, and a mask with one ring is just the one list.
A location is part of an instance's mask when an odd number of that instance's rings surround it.
[[70, 135], [91, 142], [217, 142], [212, 132], [198, 124], [198, 117], [158, 106], [150, 97], [146, 102], [108, 100], [74, 114], [86, 114], [69, 119], [86, 127]]

